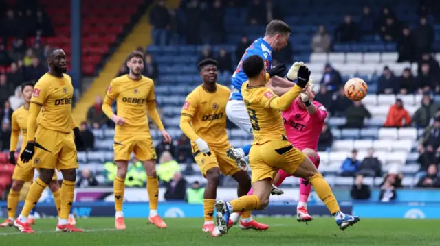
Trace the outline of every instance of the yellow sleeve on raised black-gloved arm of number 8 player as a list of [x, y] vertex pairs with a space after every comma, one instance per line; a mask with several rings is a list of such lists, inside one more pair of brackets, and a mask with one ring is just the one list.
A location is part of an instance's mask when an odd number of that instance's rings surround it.
[[302, 91], [303, 88], [295, 85], [294, 87], [292, 87], [292, 89], [287, 91], [287, 93], [285, 93], [281, 97], [278, 97], [269, 88], [263, 88], [261, 89], [261, 99], [259, 103], [265, 108], [273, 108], [275, 110], [284, 111], [289, 108], [292, 102], [296, 99], [296, 97], [298, 97], [298, 95], [300, 95]]

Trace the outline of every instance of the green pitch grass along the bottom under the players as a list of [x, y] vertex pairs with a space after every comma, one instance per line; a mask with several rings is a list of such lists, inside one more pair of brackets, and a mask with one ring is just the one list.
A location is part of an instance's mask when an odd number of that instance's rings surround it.
[[78, 219], [83, 234], [55, 232], [55, 219], [39, 219], [35, 234], [19, 234], [14, 228], [0, 228], [0, 245], [440, 245], [439, 220], [361, 219], [342, 232], [333, 218], [316, 218], [305, 225], [294, 218], [258, 218], [271, 227], [266, 232], [233, 227], [221, 238], [201, 232], [203, 219], [165, 219], [168, 228], [148, 225], [147, 219], [126, 219], [127, 230], [114, 230], [113, 218]]

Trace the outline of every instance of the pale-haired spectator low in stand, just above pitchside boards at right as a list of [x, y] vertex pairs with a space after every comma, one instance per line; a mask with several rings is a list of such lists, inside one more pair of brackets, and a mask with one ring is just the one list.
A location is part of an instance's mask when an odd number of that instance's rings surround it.
[[401, 188], [401, 180], [404, 178], [402, 173], [399, 173], [397, 165], [391, 167], [388, 174], [384, 177], [384, 181], [380, 184], [380, 201], [388, 202], [395, 200], [397, 197], [396, 188]]

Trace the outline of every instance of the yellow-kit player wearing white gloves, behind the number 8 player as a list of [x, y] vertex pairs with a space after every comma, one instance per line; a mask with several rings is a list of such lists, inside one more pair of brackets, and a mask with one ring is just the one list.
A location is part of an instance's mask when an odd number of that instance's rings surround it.
[[[214, 204], [217, 196], [217, 186], [220, 175], [230, 175], [239, 183], [239, 197], [250, 190], [248, 173], [239, 169], [235, 161], [226, 156], [226, 150], [231, 147], [226, 132], [226, 103], [230, 90], [217, 84], [217, 62], [206, 59], [199, 63], [203, 83], [192, 90], [186, 97], [181, 110], [180, 128], [191, 140], [192, 154], [199, 165], [207, 185], [203, 199], [203, 214], [205, 223], [203, 232], [214, 230]], [[242, 229], [267, 230], [267, 225], [257, 223], [250, 217], [250, 211], [243, 215], [240, 224]]]

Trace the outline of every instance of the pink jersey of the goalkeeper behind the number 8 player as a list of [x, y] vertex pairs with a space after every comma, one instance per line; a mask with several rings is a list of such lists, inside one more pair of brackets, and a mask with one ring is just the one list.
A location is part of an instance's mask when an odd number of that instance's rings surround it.
[[327, 117], [327, 109], [318, 101], [313, 101], [318, 110], [310, 115], [306, 109], [300, 108], [296, 100], [283, 111], [283, 123], [287, 138], [297, 149], [318, 149], [318, 140]]

